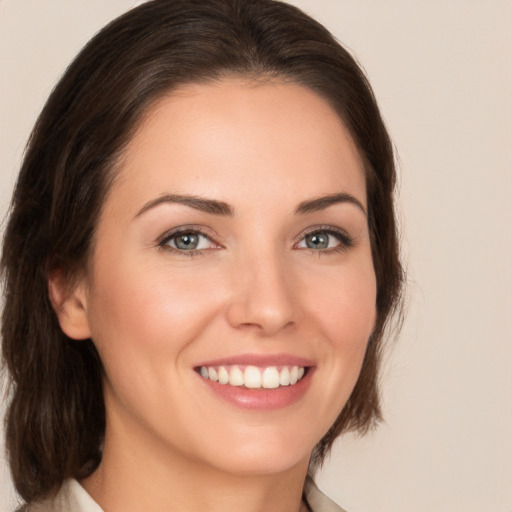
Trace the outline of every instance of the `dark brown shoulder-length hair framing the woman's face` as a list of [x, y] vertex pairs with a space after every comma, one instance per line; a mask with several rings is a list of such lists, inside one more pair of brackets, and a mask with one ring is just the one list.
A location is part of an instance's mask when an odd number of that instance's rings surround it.
[[361, 375], [318, 443], [366, 431], [381, 412], [378, 366], [385, 326], [400, 303], [392, 146], [371, 88], [349, 53], [319, 23], [273, 0], [154, 0], [110, 23], [67, 69], [30, 137], [5, 232], [2, 348], [10, 374], [7, 449], [27, 501], [101, 459], [102, 365], [91, 340], [61, 331], [48, 275], [83, 269], [115, 164], [143, 114], [163, 94], [222, 76], [278, 77], [329, 101], [366, 168], [368, 222], [377, 278], [377, 322]]

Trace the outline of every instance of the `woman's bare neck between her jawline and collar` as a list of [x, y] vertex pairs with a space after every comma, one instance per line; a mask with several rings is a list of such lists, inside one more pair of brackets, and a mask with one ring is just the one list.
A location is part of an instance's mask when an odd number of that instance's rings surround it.
[[[299, 512], [308, 460], [284, 471], [232, 473], [107, 424], [103, 459], [82, 485], [108, 512]], [[132, 432], [133, 433], [133, 432]]]

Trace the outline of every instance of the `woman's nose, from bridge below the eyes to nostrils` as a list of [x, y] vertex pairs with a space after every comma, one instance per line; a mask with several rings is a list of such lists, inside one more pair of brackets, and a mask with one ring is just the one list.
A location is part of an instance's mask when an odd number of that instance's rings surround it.
[[290, 272], [275, 256], [245, 260], [231, 275], [229, 324], [272, 336], [295, 324], [297, 313]]

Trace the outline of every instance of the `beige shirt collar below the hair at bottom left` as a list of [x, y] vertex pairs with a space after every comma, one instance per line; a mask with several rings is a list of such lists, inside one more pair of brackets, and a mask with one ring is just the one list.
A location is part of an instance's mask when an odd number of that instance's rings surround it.
[[103, 512], [76, 480], [66, 480], [49, 498], [25, 505], [17, 512]]

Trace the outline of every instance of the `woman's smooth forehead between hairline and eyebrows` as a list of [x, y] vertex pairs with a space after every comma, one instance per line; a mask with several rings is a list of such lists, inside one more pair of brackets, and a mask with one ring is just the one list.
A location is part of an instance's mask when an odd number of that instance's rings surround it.
[[342, 191], [366, 204], [363, 164], [341, 118], [294, 83], [182, 86], [146, 113], [119, 178], [147, 200], [172, 192], [300, 202]]

